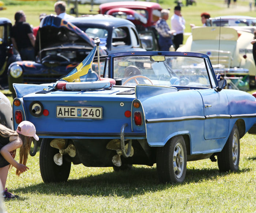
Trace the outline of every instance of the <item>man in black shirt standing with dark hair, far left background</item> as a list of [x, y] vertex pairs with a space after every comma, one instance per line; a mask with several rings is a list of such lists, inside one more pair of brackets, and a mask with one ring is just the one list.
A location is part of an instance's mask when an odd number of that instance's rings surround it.
[[18, 50], [23, 61], [34, 61], [35, 36], [29, 23], [26, 23], [26, 15], [23, 11], [18, 11], [14, 15], [15, 24], [11, 28], [11, 40], [16, 50]]

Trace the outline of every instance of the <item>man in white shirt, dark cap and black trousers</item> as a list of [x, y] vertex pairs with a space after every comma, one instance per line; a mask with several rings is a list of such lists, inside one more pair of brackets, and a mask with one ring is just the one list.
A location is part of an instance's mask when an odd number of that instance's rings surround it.
[[176, 34], [173, 34], [173, 43], [175, 50], [177, 50], [180, 44], [183, 43], [183, 33], [185, 30], [185, 19], [181, 15], [180, 6], [174, 7], [174, 14], [171, 18], [171, 26], [172, 30], [176, 31]]

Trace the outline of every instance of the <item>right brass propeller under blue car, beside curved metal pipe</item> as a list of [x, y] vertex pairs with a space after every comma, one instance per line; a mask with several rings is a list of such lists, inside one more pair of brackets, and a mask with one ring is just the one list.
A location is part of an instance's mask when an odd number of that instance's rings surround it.
[[[118, 140], [118, 139], [113, 139], [113, 140], [110, 140], [110, 142], [107, 144], [106, 148], [108, 150], [115, 150], [117, 155], [114, 155], [112, 157], [112, 163], [117, 166], [117, 167], [120, 167], [122, 165], [122, 162], [121, 162], [121, 155], [123, 155], [125, 158], [128, 158], [128, 157], [132, 157], [133, 154], [134, 154], [134, 150], [133, 150], [133, 147], [131, 146], [131, 141], [132, 140], [129, 140], [129, 143], [127, 143], [125, 146], [124, 146], [124, 149], [125, 150], [125, 154], [123, 154], [123, 150], [122, 150], [122, 147], [121, 147], [121, 141]], [[129, 147], [129, 148], [128, 148]], [[130, 150], [130, 153], [129, 151]]]

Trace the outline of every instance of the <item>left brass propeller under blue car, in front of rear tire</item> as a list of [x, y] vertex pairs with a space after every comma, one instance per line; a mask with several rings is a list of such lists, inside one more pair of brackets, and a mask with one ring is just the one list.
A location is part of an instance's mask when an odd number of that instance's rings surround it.
[[53, 156], [54, 162], [59, 166], [63, 164], [62, 155], [68, 154], [71, 157], [75, 157], [76, 155], [76, 148], [73, 144], [69, 144], [68, 147], [65, 148], [66, 146], [65, 139], [60, 139], [60, 138], [53, 139], [50, 142], [50, 146], [60, 150], [60, 153], [57, 153], [56, 155]]

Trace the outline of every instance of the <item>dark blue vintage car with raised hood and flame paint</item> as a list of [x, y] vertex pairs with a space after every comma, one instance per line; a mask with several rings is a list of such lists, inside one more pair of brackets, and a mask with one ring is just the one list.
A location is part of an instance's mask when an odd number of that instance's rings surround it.
[[100, 55], [125, 50], [144, 50], [138, 32], [128, 20], [108, 16], [70, 19], [46, 16], [35, 42], [37, 61], [12, 63], [8, 69], [9, 89], [13, 83], [43, 84], [55, 82], [68, 74], [94, 47], [93, 38], [100, 37]]

